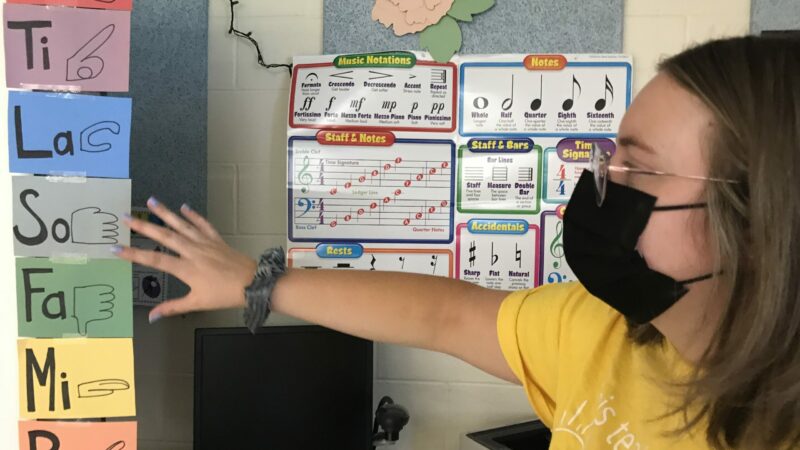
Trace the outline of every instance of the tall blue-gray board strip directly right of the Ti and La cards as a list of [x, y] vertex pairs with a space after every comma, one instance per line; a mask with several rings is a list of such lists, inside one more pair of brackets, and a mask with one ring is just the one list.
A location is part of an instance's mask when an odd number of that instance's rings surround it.
[[147, 0], [131, 14], [133, 205], [206, 211], [208, 1]]

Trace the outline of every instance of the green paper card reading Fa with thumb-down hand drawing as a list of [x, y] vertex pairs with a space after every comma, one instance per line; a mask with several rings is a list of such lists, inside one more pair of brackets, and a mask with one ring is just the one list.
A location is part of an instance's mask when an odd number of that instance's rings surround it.
[[20, 337], [133, 337], [129, 262], [17, 258], [16, 266]]

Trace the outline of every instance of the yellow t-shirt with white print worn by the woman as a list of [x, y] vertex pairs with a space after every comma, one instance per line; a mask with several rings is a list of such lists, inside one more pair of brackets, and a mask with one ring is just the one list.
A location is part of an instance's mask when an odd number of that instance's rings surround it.
[[659, 420], [680, 400], [660, 382], [685, 380], [691, 367], [669, 344], [640, 346], [625, 319], [578, 283], [509, 295], [497, 321], [500, 346], [556, 450], [708, 449], [704, 428], [665, 432]]

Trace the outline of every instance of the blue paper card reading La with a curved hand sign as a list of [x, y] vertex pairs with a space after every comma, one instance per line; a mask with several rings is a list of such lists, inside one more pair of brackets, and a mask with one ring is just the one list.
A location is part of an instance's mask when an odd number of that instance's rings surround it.
[[130, 98], [9, 92], [10, 171], [129, 178], [131, 106]]

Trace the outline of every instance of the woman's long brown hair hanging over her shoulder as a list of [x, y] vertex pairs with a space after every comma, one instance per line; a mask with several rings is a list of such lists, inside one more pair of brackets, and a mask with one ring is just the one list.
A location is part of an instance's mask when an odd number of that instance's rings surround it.
[[800, 40], [713, 41], [660, 70], [713, 113], [709, 176], [739, 180], [706, 187], [727, 308], [684, 386], [683, 431], [706, 423], [716, 449], [800, 448]]

